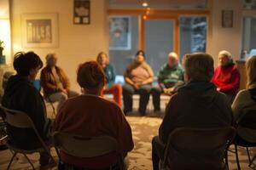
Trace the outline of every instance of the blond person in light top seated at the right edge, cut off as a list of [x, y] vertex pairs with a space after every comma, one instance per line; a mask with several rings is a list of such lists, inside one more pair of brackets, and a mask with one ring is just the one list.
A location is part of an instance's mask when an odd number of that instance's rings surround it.
[[[237, 95], [232, 110], [235, 121], [241, 119], [245, 110], [256, 110], [256, 55], [252, 56], [246, 62], [247, 72], [247, 89], [241, 90]], [[247, 128], [237, 127], [236, 139], [239, 141], [246, 141], [256, 143], [256, 134], [252, 133]]]

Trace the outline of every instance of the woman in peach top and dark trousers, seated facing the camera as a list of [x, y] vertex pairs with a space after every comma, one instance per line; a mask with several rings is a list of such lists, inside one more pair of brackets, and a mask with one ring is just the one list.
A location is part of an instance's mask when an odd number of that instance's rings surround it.
[[140, 94], [139, 109], [141, 115], [146, 115], [151, 83], [154, 80], [154, 73], [145, 61], [143, 50], [139, 50], [136, 59], [125, 71], [125, 85], [123, 86], [124, 112], [132, 111], [132, 95]]

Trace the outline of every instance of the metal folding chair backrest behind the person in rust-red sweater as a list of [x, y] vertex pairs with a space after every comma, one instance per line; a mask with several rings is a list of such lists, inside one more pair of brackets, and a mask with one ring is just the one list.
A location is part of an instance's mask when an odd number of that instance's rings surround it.
[[54, 133], [56, 148], [78, 157], [103, 156], [118, 150], [116, 139], [110, 136], [86, 137], [71, 133]]

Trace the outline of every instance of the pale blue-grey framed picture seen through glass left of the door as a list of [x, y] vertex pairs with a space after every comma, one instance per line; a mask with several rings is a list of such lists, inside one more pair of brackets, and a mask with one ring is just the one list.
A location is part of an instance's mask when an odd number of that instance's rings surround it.
[[109, 16], [109, 49], [131, 49], [131, 18], [129, 16]]

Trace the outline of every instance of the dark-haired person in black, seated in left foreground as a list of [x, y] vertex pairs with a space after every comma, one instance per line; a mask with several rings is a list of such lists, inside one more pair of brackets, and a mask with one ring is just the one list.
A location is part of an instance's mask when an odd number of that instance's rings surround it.
[[[6, 108], [24, 111], [34, 122], [42, 139], [49, 139], [49, 119], [46, 118], [44, 99], [32, 85], [32, 80], [42, 68], [43, 62], [33, 52], [17, 53], [14, 59], [15, 76], [9, 77], [3, 94], [2, 105]], [[7, 124], [9, 142], [20, 149], [33, 150], [41, 147], [32, 129], [12, 127]], [[40, 144], [40, 145], [39, 145]], [[49, 163], [47, 153], [40, 153], [41, 166]]]

